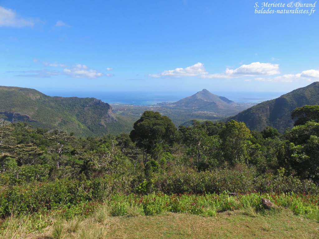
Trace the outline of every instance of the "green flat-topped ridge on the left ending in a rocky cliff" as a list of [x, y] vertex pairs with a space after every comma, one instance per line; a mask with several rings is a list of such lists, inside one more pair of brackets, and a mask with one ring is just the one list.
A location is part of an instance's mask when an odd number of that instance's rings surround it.
[[111, 106], [96, 98], [50, 97], [34, 89], [0, 86], [0, 102], [0, 118], [34, 127], [82, 136], [119, 133], [114, 123], [123, 128]]

